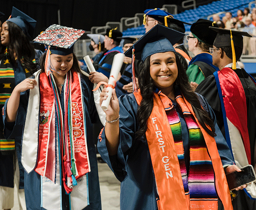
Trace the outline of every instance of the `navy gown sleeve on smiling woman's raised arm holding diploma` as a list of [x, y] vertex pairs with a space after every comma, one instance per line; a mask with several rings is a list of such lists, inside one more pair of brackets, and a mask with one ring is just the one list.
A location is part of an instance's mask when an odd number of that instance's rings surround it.
[[125, 166], [126, 160], [129, 156], [130, 150], [133, 145], [135, 132], [138, 129], [137, 123], [137, 107], [138, 104], [133, 94], [121, 96], [119, 98], [119, 131], [120, 142], [116, 155], [110, 156], [106, 147], [105, 128], [99, 135], [97, 144], [98, 151], [102, 159], [108, 164], [110, 169], [114, 172], [117, 179], [122, 181], [126, 176]]

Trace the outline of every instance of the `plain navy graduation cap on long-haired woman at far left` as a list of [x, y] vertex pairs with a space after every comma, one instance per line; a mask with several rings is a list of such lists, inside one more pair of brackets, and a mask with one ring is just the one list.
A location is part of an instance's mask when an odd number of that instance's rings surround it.
[[26, 15], [24, 12], [21, 12], [16, 7], [12, 7], [11, 18], [9, 18], [7, 21], [15, 23], [21, 28], [26, 36], [32, 39], [35, 25], [37, 23], [37, 21], [35, 21], [33, 18], [30, 18], [28, 15]]

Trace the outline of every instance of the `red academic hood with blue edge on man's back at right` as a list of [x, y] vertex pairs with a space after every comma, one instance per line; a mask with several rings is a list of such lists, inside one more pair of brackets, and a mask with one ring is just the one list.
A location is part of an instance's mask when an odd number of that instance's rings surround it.
[[[214, 72], [213, 75], [215, 76], [219, 99], [221, 101], [227, 144], [238, 167], [251, 164], [250, 139], [247, 127], [247, 106], [242, 83], [238, 75], [231, 68], [221, 69], [221, 71]], [[235, 133], [234, 129], [238, 130], [236, 136], [233, 135]], [[238, 139], [238, 136], [241, 137]], [[237, 144], [241, 145], [241, 148], [239, 148], [240, 154], [236, 155], [234, 154], [234, 148]], [[232, 149], [232, 147], [234, 148]], [[243, 151], [242, 153], [241, 150]], [[241, 157], [241, 154], [245, 154], [243, 155], [244, 157]], [[248, 163], [239, 162], [241, 159], [248, 160]]]

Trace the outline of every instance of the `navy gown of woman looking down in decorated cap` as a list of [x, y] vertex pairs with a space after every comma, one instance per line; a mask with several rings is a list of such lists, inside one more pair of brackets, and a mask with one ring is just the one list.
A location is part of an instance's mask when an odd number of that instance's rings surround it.
[[[84, 100], [84, 113], [86, 120], [86, 138], [88, 155], [90, 160], [91, 172], [88, 172], [88, 188], [89, 188], [89, 202], [90, 205], [84, 208], [84, 210], [101, 210], [101, 195], [99, 188], [99, 175], [98, 175], [98, 165], [95, 153], [95, 145], [93, 142], [93, 132], [92, 123], [100, 122], [96, 107], [94, 104], [93, 93], [90, 91], [93, 84], [88, 80], [88, 77], [82, 75], [81, 78], [83, 100]], [[64, 89], [62, 88], [61, 93], [59, 93], [62, 110], [64, 110]], [[24, 118], [26, 117], [27, 102], [29, 98], [29, 91], [21, 93], [20, 105], [18, 108], [17, 118], [15, 123], [8, 123], [5, 120], [6, 117], [6, 105], [4, 106], [4, 116], [3, 120], [5, 122], [5, 135], [8, 138], [14, 138], [17, 133], [22, 135], [22, 128], [24, 125]], [[29, 111], [29, 110], [28, 110]], [[21, 153], [19, 154], [19, 159], [21, 158]], [[24, 173], [24, 188], [25, 188], [25, 199], [27, 210], [44, 210], [41, 207], [41, 178], [40, 175], [34, 170], [29, 174]], [[72, 193], [72, 192], [71, 192]], [[64, 192], [64, 187], [62, 187], [62, 209], [69, 210], [69, 196]]]

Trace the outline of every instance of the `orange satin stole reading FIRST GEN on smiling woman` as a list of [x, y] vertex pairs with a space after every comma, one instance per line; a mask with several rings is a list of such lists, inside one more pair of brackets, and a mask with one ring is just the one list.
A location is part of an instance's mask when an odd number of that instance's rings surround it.
[[[136, 98], [137, 104], [140, 104], [140, 101], [142, 100], [140, 90], [139, 92], [133, 94]], [[148, 129], [146, 131], [146, 139], [148, 141], [149, 152], [151, 155], [159, 195], [158, 208], [161, 210], [217, 209], [216, 201], [189, 200], [189, 195], [185, 195], [178, 157], [175, 151], [174, 139], [164, 109], [165, 104], [172, 104], [172, 102], [168, 97], [163, 97], [160, 99], [158, 94], [154, 93], [154, 107], [151, 115], [148, 118]], [[184, 99], [183, 102], [181, 101], [179, 104], [183, 105], [183, 112], [191, 112], [195, 117], [194, 111], [186, 99]], [[210, 157], [212, 159], [218, 195], [222, 200], [224, 209], [233, 210], [226, 175], [222, 167], [215, 139], [203, 129], [196, 117], [195, 119], [203, 133]], [[164, 141], [164, 144], [161, 143], [160, 145], [160, 142], [162, 141]]]

